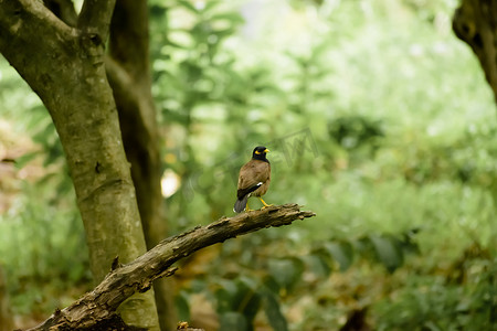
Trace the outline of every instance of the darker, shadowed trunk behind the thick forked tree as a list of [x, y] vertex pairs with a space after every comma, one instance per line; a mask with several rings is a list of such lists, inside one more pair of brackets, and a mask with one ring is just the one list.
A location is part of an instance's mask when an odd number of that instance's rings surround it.
[[[106, 65], [150, 249], [167, 236], [167, 222], [160, 186], [160, 138], [151, 95], [148, 29], [147, 1], [117, 0]], [[154, 288], [160, 327], [172, 330], [177, 322], [172, 279], [158, 279]]]

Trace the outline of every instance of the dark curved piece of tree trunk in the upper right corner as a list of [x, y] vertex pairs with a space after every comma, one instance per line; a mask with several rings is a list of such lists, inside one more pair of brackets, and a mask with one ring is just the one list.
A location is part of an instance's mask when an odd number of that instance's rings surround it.
[[497, 100], [497, 1], [462, 0], [452, 26], [478, 57]]

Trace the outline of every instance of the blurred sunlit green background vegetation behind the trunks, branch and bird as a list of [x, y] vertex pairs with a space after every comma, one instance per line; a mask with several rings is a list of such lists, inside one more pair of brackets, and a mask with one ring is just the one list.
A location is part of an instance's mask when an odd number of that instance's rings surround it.
[[[182, 319], [496, 330], [496, 109], [452, 32], [457, 1], [149, 6], [171, 234], [233, 214], [257, 145], [272, 150], [266, 202], [317, 214], [184, 261]], [[0, 267], [21, 328], [91, 289], [92, 275], [55, 129], [4, 60], [0, 117]]]

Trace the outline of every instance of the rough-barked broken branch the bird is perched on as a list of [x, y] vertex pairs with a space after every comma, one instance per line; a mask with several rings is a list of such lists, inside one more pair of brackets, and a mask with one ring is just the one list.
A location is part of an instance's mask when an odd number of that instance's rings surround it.
[[114, 267], [117, 267], [93, 291], [70, 307], [56, 311], [44, 323], [29, 331], [49, 330], [52, 327], [57, 330], [95, 328], [98, 323], [115, 319], [117, 307], [127, 298], [136, 292], [147, 291], [154, 280], [171, 276], [177, 269], [171, 268], [172, 264], [181, 258], [239, 235], [288, 225], [295, 220], [315, 215], [313, 212], [300, 211], [297, 204], [271, 206], [234, 217], [222, 217], [208, 226], [198, 226], [167, 238], [127, 265], [114, 264]]

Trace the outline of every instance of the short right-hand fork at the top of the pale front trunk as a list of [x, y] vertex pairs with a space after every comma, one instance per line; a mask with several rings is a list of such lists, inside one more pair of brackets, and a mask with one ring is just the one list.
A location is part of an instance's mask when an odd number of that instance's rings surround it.
[[115, 4], [116, 0], [85, 0], [77, 20], [77, 28], [83, 32], [99, 35], [99, 39], [105, 42]]

